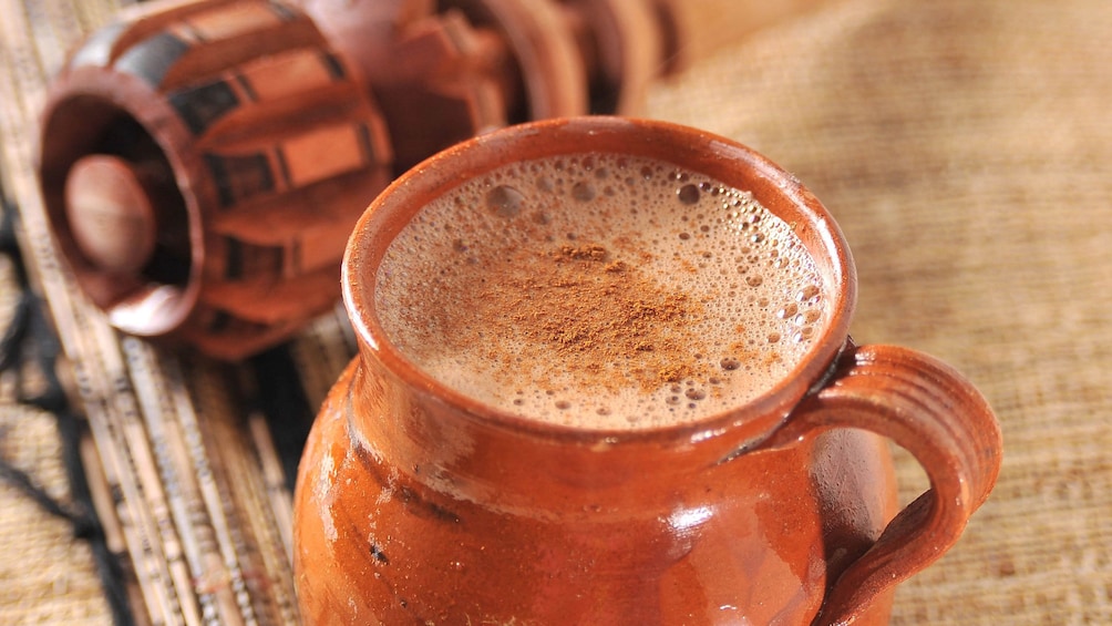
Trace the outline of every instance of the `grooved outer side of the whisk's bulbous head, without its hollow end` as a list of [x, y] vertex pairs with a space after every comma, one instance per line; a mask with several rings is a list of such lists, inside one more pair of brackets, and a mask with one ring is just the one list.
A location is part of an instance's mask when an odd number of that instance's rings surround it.
[[327, 309], [350, 225], [388, 182], [393, 153], [358, 72], [312, 21], [265, 0], [191, 2], [86, 48], [70, 68], [139, 78], [192, 138], [205, 257], [182, 335], [235, 356]]

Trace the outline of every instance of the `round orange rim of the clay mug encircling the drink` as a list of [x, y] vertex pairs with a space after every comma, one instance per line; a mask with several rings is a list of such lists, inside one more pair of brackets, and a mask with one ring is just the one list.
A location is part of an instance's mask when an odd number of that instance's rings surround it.
[[[562, 146], [572, 149], [557, 149]], [[803, 359], [775, 385], [747, 403], [696, 420], [628, 429], [584, 428], [497, 409], [435, 379], [393, 345], [376, 315], [377, 270], [390, 242], [425, 206], [424, 199], [449, 192], [466, 180], [512, 162], [598, 152], [667, 161], [752, 191], [765, 208], [793, 226], [820, 266], [823, 296], [830, 300], [830, 320], [816, 329], [814, 344]], [[744, 183], [738, 185], [736, 181], [742, 179]], [[782, 211], [793, 212], [792, 217], [803, 221], [787, 219]], [[741, 426], [755, 427], [758, 436], [771, 433], [824, 379], [848, 337], [856, 304], [856, 275], [845, 237], [826, 208], [795, 176], [732, 139], [674, 122], [618, 116], [509, 126], [457, 143], [418, 163], [384, 189], [359, 218], [345, 249], [340, 280], [344, 306], [359, 347], [357, 358], [375, 358], [410, 389], [438, 397], [478, 421], [588, 444], [675, 438], [695, 443]]]

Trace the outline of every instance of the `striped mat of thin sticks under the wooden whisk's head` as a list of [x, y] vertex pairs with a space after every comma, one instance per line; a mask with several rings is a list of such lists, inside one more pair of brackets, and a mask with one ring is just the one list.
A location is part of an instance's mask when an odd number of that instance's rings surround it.
[[[0, 1], [4, 189], [19, 208], [24, 257], [88, 417], [90, 487], [99, 495], [109, 547], [120, 555], [137, 622], [296, 623], [289, 481], [261, 410], [274, 397], [267, 386], [276, 382], [258, 378], [256, 365], [265, 361], [207, 362], [117, 335], [59, 267], [47, 230], [32, 169], [43, 86], [82, 33], [118, 9], [107, 0]], [[344, 340], [334, 334], [330, 344], [318, 341], [310, 329], [291, 352], [301, 352], [324, 380], [335, 377], [329, 367], [339, 367], [331, 354], [344, 352], [346, 360]], [[310, 416], [298, 417], [307, 423]], [[13, 528], [27, 531], [26, 525]], [[64, 533], [54, 541], [66, 541]], [[22, 543], [12, 545], [20, 546], [9, 553], [12, 573], [36, 563]], [[47, 558], [39, 557], [42, 565], [50, 565]], [[6, 585], [13, 597], [0, 605], [0, 622], [38, 623], [51, 615], [43, 609], [53, 602], [43, 585], [21, 596], [22, 579], [12, 575]], [[52, 590], [69, 599], [64, 586]]]

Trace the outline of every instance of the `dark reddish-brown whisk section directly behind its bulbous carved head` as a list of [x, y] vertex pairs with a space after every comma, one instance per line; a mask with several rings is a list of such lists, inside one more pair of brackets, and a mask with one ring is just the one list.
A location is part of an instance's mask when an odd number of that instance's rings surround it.
[[[547, 1], [547, 0], [546, 0]], [[500, 33], [431, 0], [302, 0], [363, 72], [394, 147], [394, 171], [512, 121], [520, 77]]]

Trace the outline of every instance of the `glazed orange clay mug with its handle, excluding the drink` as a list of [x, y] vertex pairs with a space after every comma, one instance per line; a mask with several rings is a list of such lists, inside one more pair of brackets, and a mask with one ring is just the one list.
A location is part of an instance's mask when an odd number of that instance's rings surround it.
[[[508, 163], [596, 153], [748, 190], [792, 226], [828, 320], [788, 374], [694, 421], [593, 429], [496, 409], [394, 345], [375, 277], [418, 211]], [[295, 496], [309, 623], [884, 624], [894, 586], [954, 545], [1000, 468], [999, 425], [969, 381], [848, 338], [855, 270], [818, 200], [695, 129], [550, 120], [450, 148], [374, 201], [342, 280], [359, 354], [314, 426]], [[931, 481], [898, 511], [887, 440]]]

